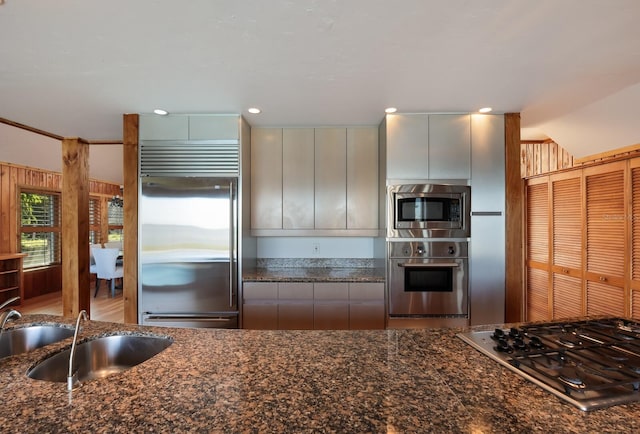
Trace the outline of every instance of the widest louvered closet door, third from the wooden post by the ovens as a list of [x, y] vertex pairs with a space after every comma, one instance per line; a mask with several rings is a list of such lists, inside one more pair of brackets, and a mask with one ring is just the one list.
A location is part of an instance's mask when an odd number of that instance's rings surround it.
[[625, 163], [585, 169], [586, 314], [624, 315]]

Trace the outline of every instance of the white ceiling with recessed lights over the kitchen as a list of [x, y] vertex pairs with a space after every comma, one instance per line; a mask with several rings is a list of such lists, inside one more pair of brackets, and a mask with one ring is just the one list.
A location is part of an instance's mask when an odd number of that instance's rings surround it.
[[156, 107], [310, 126], [492, 106], [578, 157], [640, 143], [638, 0], [0, 3], [0, 117], [61, 136], [121, 139]]

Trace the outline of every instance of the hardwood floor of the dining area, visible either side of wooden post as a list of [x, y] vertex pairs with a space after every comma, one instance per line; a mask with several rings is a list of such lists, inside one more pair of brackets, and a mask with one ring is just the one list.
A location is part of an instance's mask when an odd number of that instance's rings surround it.
[[[93, 290], [92, 286], [90, 318], [95, 321], [123, 323], [122, 291], [116, 291], [115, 297], [111, 298], [111, 292], [103, 286], [98, 292], [98, 296], [93, 298]], [[23, 314], [62, 315], [62, 292], [52, 292], [25, 300], [18, 307], [18, 311]]]

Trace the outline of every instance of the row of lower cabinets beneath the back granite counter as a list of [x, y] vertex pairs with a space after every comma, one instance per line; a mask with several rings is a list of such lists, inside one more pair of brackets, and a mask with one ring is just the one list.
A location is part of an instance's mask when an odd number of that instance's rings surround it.
[[245, 282], [245, 329], [384, 329], [384, 284]]

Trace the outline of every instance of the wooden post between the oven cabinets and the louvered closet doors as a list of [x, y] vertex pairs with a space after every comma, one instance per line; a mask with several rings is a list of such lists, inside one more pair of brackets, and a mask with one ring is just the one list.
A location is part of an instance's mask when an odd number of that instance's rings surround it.
[[524, 181], [520, 174], [520, 113], [506, 113], [506, 293], [505, 319], [524, 321]]

